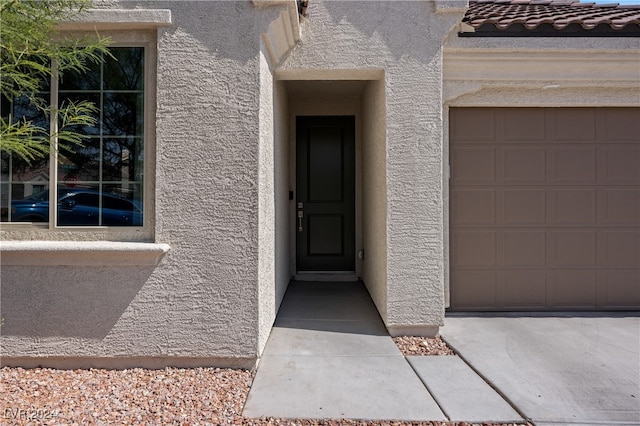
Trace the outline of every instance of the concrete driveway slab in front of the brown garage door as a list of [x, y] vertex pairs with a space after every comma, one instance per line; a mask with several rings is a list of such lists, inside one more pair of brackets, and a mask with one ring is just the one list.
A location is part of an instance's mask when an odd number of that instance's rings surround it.
[[640, 425], [638, 315], [449, 316], [440, 334], [536, 426]]

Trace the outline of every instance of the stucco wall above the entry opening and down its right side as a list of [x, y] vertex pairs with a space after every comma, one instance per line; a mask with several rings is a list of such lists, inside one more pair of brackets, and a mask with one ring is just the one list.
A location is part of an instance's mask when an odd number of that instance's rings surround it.
[[384, 70], [392, 332], [444, 317], [441, 41], [460, 15], [434, 11], [431, 2], [311, 2], [301, 44], [281, 67]]

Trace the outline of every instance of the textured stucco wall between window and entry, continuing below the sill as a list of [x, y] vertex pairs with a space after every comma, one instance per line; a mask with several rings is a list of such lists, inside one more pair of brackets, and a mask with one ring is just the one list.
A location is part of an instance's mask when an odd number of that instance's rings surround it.
[[272, 81], [260, 40], [284, 6], [99, 5], [171, 10], [157, 39], [152, 240], [171, 250], [156, 267], [3, 267], [3, 362], [250, 366], [277, 307]]

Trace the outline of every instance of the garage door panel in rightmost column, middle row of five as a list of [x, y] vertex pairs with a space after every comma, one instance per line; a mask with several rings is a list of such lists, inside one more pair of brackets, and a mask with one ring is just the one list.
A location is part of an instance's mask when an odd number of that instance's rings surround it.
[[598, 191], [598, 222], [608, 226], [640, 226], [640, 189]]

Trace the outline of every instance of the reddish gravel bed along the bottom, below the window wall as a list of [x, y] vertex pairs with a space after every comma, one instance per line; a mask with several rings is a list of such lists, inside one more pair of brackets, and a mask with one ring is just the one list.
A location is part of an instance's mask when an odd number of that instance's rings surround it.
[[218, 368], [54, 370], [5, 367], [0, 369], [0, 424], [471, 425], [244, 418], [242, 407], [252, 380], [250, 371]]

